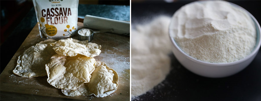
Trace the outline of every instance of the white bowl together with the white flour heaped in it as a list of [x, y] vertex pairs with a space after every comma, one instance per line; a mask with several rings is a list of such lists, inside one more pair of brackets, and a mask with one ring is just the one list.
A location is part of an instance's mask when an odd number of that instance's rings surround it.
[[240, 72], [260, 48], [260, 25], [247, 10], [226, 1], [195, 1], [175, 12], [172, 51], [191, 72], [212, 78]]

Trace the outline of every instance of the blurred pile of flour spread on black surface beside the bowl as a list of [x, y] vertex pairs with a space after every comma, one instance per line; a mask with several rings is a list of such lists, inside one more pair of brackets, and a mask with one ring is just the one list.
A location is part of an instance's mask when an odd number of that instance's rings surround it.
[[170, 17], [158, 16], [131, 29], [131, 97], [142, 95], [162, 82], [170, 71]]

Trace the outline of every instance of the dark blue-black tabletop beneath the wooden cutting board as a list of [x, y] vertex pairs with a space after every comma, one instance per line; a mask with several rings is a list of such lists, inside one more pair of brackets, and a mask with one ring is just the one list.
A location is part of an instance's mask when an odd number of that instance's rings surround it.
[[[130, 21], [130, 6], [126, 5], [87, 5], [79, 4], [78, 17], [92, 15], [115, 20]], [[27, 35], [37, 23], [35, 9], [31, 8], [21, 23], [12, 31], [6, 41], [1, 45], [1, 72], [14, 56]]]

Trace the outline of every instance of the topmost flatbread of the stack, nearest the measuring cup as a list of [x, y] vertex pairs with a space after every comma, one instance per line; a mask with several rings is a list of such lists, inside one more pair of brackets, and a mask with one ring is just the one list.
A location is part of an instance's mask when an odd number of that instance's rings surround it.
[[91, 42], [88, 43], [88, 40], [79, 41], [73, 38], [68, 38], [66, 40], [59, 40], [55, 42], [55, 47], [53, 49], [59, 55], [73, 57], [80, 54], [93, 58], [101, 53], [100, 48], [101, 45]]

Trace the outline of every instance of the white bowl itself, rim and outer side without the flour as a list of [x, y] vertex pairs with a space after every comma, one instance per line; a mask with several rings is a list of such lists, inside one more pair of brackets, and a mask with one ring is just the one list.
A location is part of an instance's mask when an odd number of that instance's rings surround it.
[[[197, 1], [196, 1], [197, 2]], [[245, 10], [244, 8], [231, 3], [232, 5], [241, 8]], [[209, 63], [197, 60], [186, 53], [184, 53], [179, 46], [176, 44], [174, 38], [170, 37], [171, 42], [173, 43], [172, 46], [172, 52], [174, 53], [177, 60], [188, 70], [191, 72], [205, 76], [205, 77], [211, 77], [211, 78], [220, 78], [220, 77], [226, 77], [231, 76], [233, 74], [236, 74], [246, 68], [255, 58], [256, 54], [258, 53], [258, 50], [260, 48], [261, 44], [261, 29], [258, 21], [255, 19], [255, 17], [250, 14], [247, 10], [245, 10], [249, 16], [253, 19], [256, 27], [257, 32], [257, 38], [256, 38], [256, 45], [254, 50], [250, 55], [247, 57], [244, 57], [243, 59], [240, 59], [238, 61], [230, 62], [230, 63]], [[169, 34], [171, 33], [169, 29]]]

